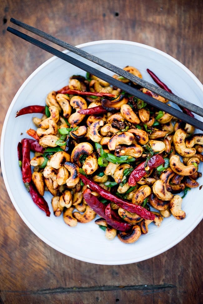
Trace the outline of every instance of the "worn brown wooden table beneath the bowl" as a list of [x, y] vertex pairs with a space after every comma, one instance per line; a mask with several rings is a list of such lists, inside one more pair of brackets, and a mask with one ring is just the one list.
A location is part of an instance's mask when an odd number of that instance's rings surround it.
[[[202, 0], [2, 0], [2, 127], [21, 84], [51, 57], [6, 31], [11, 17], [73, 45], [124, 39], [160, 49], [203, 80]], [[12, 143], [11, 143], [12, 144]], [[0, 303], [202, 303], [202, 223], [175, 247], [121, 266], [77, 261], [37, 238], [1, 180]]]

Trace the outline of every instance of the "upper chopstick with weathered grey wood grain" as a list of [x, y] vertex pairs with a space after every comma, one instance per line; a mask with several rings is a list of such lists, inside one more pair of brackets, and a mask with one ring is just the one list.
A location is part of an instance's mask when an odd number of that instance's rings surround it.
[[143, 80], [135, 75], [132, 75], [131, 73], [109, 63], [109, 62], [106, 62], [104, 60], [102, 60], [101, 58], [98, 58], [92, 54], [89, 54], [87, 53], [86, 51], [83, 51], [82, 49], [79, 49], [75, 46], [72, 46], [71, 44], [65, 42], [65, 41], [62, 41], [58, 38], [55, 38], [53, 36], [51, 36], [50, 34], [47, 34], [46, 32], [44, 31], [41, 31], [35, 27], [32, 27], [24, 22], [21, 22], [17, 19], [14, 19], [14, 18], [11, 18], [10, 21], [34, 34], [36, 34], [37, 36], [41, 36], [43, 38], [45, 38], [46, 40], [48, 41], [51, 41], [55, 44], [57, 44], [58, 46], [62, 46], [63, 48], [69, 50], [69, 51], [72, 51], [73, 53], [79, 55], [79, 56], [82, 56], [104, 68], [106, 68], [107, 70], [110, 70], [112, 72], [114, 72], [115, 74], [118, 74], [120, 76], [123, 76], [129, 80], [131, 80], [132, 82], [135, 82], [139, 85], [141, 85], [143, 88], [146, 88], [158, 95], [161, 95], [162, 97], [174, 102], [175, 104], [177, 104], [178, 106], [181, 106], [183, 108], [186, 108], [188, 110], [190, 110], [191, 112], [193, 113], [196, 113], [200, 116], [203, 117], [203, 109], [198, 107], [197, 105], [195, 104], [191, 104], [190, 102], [188, 102], [187, 100], [185, 99], [182, 99], [180, 97], [178, 97], [177, 95], [175, 94], [172, 94], [170, 92], [167, 92], [166, 90], [164, 89], [161, 89], [159, 87], [157, 87], [156, 85], [154, 84], [151, 84], [150, 82], [146, 81], [146, 80]]

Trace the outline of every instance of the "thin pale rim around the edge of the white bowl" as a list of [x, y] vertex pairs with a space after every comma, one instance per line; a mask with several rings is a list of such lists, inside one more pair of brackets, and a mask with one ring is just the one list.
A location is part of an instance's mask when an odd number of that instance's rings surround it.
[[[185, 66], [183, 65], [180, 61], [176, 60], [174, 57], [172, 57], [171, 55], [168, 55], [167, 53], [156, 49], [152, 46], [148, 46], [139, 42], [134, 42], [134, 41], [128, 41], [128, 40], [98, 40], [98, 41], [89, 41], [86, 43], [82, 43], [77, 45], [78, 48], [83, 48], [86, 46], [92, 46], [92, 45], [96, 45], [96, 44], [130, 44], [130, 45], [134, 45], [134, 46], [138, 46], [138, 47], [142, 47], [148, 50], [151, 50], [155, 53], [158, 53], [166, 58], [168, 58], [169, 60], [173, 61], [176, 65], [178, 65], [179, 67], [181, 67], [181, 69], [183, 69], [192, 79], [193, 81], [196, 82], [196, 84], [201, 88], [202, 92], [203, 92], [203, 85], [201, 84], [200, 80], [197, 79], [197, 77]], [[65, 53], [69, 53], [69, 51], [65, 50], [63, 51]], [[71, 52], [70, 52], [71, 53]], [[145, 257], [139, 261], [135, 261], [135, 259], [128, 259], [128, 260], [116, 260], [116, 263], [113, 261], [105, 261], [105, 260], [97, 260], [97, 259], [92, 259], [92, 258], [83, 258], [80, 255], [77, 254], [72, 254], [72, 253], [68, 253], [67, 254], [67, 250], [63, 250], [62, 248], [60, 248], [58, 245], [52, 243], [51, 241], [47, 240], [41, 233], [39, 233], [35, 227], [33, 227], [32, 224], [29, 223], [29, 221], [27, 220], [27, 218], [22, 214], [20, 208], [18, 207], [17, 203], [15, 202], [14, 196], [12, 195], [12, 191], [11, 188], [9, 186], [9, 182], [7, 180], [7, 175], [6, 175], [6, 168], [5, 168], [5, 164], [4, 164], [4, 153], [3, 153], [3, 141], [4, 141], [4, 137], [5, 137], [5, 132], [6, 132], [6, 125], [7, 125], [7, 120], [10, 116], [10, 113], [12, 111], [12, 108], [17, 100], [17, 98], [19, 97], [19, 95], [21, 94], [22, 90], [26, 87], [27, 83], [40, 71], [42, 70], [45, 66], [47, 66], [50, 62], [52, 62], [53, 60], [56, 60], [58, 57], [56, 56], [52, 56], [51, 58], [47, 59], [45, 62], [43, 62], [40, 66], [37, 67], [37, 69], [35, 69], [28, 77], [27, 79], [23, 82], [23, 84], [20, 86], [20, 88], [18, 89], [17, 93], [15, 94], [15, 96], [12, 99], [12, 102], [7, 110], [5, 119], [4, 119], [4, 123], [3, 123], [3, 127], [2, 127], [2, 134], [1, 134], [1, 142], [0, 142], [0, 159], [1, 159], [1, 167], [2, 167], [2, 176], [3, 176], [3, 180], [6, 186], [6, 190], [8, 192], [8, 195], [12, 201], [12, 204], [14, 205], [15, 209], [17, 210], [17, 213], [20, 215], [21, 219], [24, 221], [24, 223], [31, 229], [31, 231], [37, 235], [37, 237], [39, 237], [44, 243], [48, 244], [50, 247], [56, 249], [57, 251], [68, 255], [71, 258], [75, 258], [78, 260], [81, 260], [83, 262], [87, 262], [87, 263], [95, 263], [95, 264], [101, 264], [101, 265], [122, 265], [122, 264], [129, 264], [129, 263], [136, 263], [142, 260], [146, 260], [149, 258], [153, 258], [161, 253], [164, 253], [166, 250], [171, 249], [172, 247], [174, 247], [176, 244], [178, 244], [181, 240], [183, 240], [188, 234], [191, 233], [191, 231], [193, 229], [195, 229], [195, 227], [200, 223], [200, 221], [202, 220], [203, 217], [203, 212], [202, 214], [199, 214], [199, 217], [196, 219], [196, 222], [193, 223], [189, 229], [187, 229], [185, 231], [185, 233], [183, 235], [181, 235], [181, 237], [178, 237], [177, 239], [175, 239], [173, 241], [173, 244], [167, 244], [165, 247], [163, 247], [161, 250], [157, 250], [154, 251], [153, 254], [145, 254]]]

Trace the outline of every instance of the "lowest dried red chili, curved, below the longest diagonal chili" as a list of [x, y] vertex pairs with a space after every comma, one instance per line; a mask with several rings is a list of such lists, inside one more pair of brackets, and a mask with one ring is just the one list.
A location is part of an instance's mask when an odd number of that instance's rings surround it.
[[110, 204], [106, 206], [105, 216], [106, 216], [106, 223], [117, 230], [128, 231], [132, 228], [131, 224], [124, 222], [120, 218], [120, 216], [117, 215], [116, 212], [111, 209]]

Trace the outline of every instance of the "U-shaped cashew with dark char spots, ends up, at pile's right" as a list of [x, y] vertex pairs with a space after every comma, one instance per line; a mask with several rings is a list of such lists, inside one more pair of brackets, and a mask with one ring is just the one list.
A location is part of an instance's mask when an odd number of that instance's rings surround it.
[[172, 155], [170, 158], [170, 167], [171, 169], [179, 175], [191, 175], [195, 173], [198, 169], [198, 166], [188, 165], [185, 166], [181, 161], [178, 155]]

